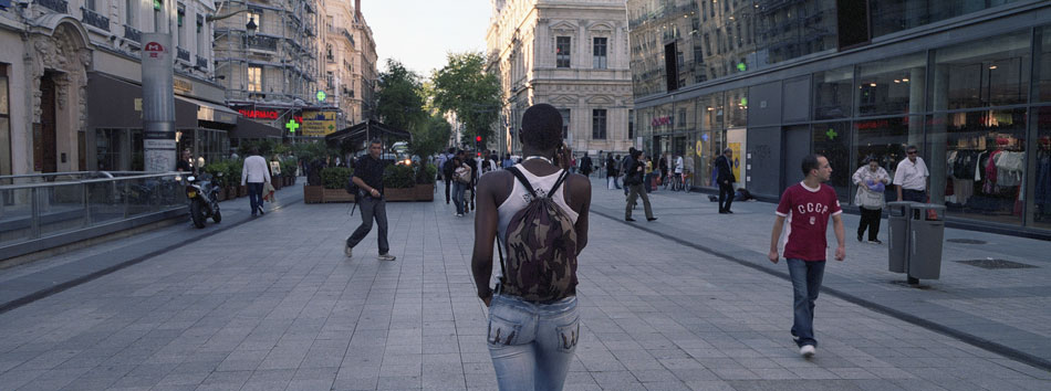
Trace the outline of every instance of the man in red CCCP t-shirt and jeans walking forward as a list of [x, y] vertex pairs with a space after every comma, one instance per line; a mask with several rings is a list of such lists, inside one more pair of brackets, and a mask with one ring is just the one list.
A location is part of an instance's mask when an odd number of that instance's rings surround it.
[[832, 166], [829, 159], [821, 155], [810, 155], [803, 158], [803, 175], [807, 176], [799, 184], [784, 190], [781, 202], [778, 203], [778, 219], [773, 222], [773, 233], [770, 235], [770, 262], [778, 263], [778, 241], [785, 218], [789, 226], [784, 233], [784, 258], [788, 261], [789, 274], [792, 276], [794, 296], [794, 320], [792, 337], [799, 345], [799, 353], [805, 358], [812, 357], [818, 347], [814, 339], [814, 300], [821, 290], [821, 278], [824, 276], [828, 243], [825, 232], [829, 228], [829, 216], [834, 223], [835, 260], [846, 257], [846, 234], [843, 229], [843, 219], [840, 201], [826, 182], [832, 177]]

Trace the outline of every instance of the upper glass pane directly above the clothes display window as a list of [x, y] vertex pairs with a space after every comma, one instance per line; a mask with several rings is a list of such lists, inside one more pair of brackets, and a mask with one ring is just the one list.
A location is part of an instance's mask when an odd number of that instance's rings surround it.
[[934, 110], [1024, 104], [1029, 94], [1028, 30], [938, 49]]

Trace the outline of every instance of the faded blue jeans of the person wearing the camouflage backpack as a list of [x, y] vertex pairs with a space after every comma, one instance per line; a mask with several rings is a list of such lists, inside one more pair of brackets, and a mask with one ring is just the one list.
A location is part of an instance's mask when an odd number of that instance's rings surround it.
[[495, 295], [487, 340], [501, 391], [562, 390], [580, 340], [576, 296], [535, 304]]

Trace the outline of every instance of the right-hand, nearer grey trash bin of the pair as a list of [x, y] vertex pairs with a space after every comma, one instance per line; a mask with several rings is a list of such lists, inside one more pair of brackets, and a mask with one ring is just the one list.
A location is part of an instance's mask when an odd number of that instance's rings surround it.
[[945, 205], [917, 203], [908, 222], [908, 276], [937, 279], [941, 274], [941, 241], [945, 239]]

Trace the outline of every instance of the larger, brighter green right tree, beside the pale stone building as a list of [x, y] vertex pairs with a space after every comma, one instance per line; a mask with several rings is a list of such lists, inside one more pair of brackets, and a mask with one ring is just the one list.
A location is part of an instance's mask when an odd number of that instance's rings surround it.
[[500, 118], [500, 81], [486, 72], [486, 56], [481, 52], [450, 53], [448, 61], [433, 77], [434, 106], [443, 113], [456, 114], [456, 119], [464, 124], [461, 142], [472, 142], [475, 136], [481, 136], [487, 144], [493, 136], [492, 124]]

